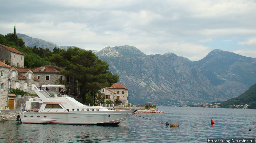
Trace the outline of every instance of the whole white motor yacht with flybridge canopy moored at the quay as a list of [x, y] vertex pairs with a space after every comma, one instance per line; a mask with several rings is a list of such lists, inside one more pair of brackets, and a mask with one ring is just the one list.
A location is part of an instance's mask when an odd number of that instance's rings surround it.
[[24, 111], [17, 116], [22, 123], [55, 124], [119, 124], [137, 110], [109, 110], [102, 106], [88, 106], [63, 94], [64, 85], [35, 86], [35, 92], [41, 99], [37, 110]]

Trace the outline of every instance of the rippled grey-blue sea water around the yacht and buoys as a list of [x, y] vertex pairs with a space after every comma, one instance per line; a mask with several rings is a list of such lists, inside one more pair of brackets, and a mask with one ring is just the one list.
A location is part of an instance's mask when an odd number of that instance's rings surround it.
[[157, 108], [165, 113], [130, 115], [116, 126], [0, 122], [0, 142], [207, 142], [207, 138], [256, 137], [256, 110]]

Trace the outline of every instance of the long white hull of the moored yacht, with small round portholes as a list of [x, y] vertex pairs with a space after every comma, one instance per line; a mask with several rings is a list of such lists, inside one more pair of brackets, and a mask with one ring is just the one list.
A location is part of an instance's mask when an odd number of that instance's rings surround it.
[[135, 111], [24, 112], [20, 114], [20, 121], [54, 124], [119, 124]]

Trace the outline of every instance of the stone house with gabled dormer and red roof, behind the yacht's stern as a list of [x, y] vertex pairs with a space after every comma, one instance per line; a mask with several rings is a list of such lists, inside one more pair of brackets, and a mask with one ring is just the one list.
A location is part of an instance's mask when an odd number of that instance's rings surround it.
[[31, 94], [36, 94], [35, 87], [39, 87], [40, 80], [34, 77], [34, 72], [31, 68], [18, 68], [18, 81], [20, 88]]

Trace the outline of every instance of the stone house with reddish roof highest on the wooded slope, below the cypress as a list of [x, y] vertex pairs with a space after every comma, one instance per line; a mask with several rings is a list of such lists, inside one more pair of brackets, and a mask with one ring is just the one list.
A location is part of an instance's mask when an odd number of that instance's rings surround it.
[[0, 59], [6, 60], [10, 65], [23, 67], [24, 54], [15, 48], [8, 47], [0, 44]]

